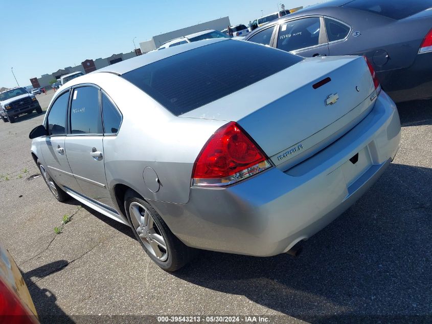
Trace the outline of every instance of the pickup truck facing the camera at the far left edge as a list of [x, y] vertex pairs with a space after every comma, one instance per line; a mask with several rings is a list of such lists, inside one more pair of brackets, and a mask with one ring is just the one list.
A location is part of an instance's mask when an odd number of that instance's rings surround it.
[[15, 118], [21, 114], [30, 114], [36, 111], [42, 114], [39, 101], [24, 88], [13, 88], [0, 92], [0, 116], [4, 122], [15, 122]]

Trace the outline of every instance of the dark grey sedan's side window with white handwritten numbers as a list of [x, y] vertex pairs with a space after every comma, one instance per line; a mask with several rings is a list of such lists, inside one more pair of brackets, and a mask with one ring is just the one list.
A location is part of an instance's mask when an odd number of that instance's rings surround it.
[[319, 44], [320, 18], [310, 17], [288, 21], [279, 27], [277, 48], [287, 52]]

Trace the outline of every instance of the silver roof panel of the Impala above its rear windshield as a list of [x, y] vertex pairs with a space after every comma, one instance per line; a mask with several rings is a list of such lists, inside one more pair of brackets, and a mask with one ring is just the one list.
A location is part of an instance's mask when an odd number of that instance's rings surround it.
[[147, 54], [143, 54], [140, 56], [132, 57], [132, 58], [129, 58], [127, 60], [112, 64], [110, 66], [107, 66], [105, 68], [96, 70], [96, 71], [91, 72], [91, 73], [108, 72], [108, 73], [113, 73], [113, 74], [117, 74], [117, 75], [122, 75], [124, 73], [129, 72], [129, 71], [141, 68], [147, 64], [162, 60], [164, 58], [167, 58], [167, 57], [170, 57], [170, 56], [173, 56], [176, 54], [187, 52], [187, 51], [196, 49], [196, 48], [201, 47], [201, 46], [211, 45], [215, 42], [228, 41], [228, 40], [230, 40], [230, 38], [212, 38], [212, 39], [194, 41], [194, 42], [191, 42], [188, 44], [184, 44], [182, 46], [169, 47], [163, 51], [154, 51], [154, 52], [149, 52]]

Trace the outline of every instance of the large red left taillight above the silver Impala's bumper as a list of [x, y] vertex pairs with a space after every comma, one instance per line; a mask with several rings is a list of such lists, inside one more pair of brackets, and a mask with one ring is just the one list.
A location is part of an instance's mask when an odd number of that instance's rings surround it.
[[265, 154], [235, 122], [220, 127], [198, 155], [194, 185], [228, 185], [268, 168]]

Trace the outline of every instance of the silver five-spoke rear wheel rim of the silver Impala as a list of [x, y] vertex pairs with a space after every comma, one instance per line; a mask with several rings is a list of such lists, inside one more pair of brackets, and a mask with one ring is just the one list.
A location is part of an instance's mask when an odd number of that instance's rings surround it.
[[[149, 210], [138, 202], [129, 205], [132, 226], [146, 249], [161, 262], [168, 260], [168, 245], [161, 229], [157, 226]], [[165, 252], [159, 249], [161, 247]]]

